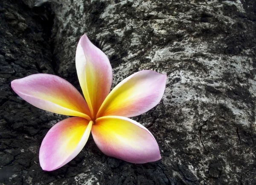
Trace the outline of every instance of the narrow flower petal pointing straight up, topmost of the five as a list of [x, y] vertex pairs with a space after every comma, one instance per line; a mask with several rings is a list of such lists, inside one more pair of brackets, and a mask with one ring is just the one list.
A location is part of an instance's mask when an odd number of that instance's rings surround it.
[[108, 57], [84, 34], [76, 49], [76, 71], [85, 100], [95, 118], [112, 85], [112, 68]]

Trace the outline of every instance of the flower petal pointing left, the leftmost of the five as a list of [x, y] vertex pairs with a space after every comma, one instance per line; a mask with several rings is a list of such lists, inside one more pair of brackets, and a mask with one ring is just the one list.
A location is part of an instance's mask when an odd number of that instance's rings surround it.
[[90, 120], [90, 111], [84, 98], [73, 85], [61, 77], [52, 74], [32, 74], [13, 80], [12, 89], [38, 108]]

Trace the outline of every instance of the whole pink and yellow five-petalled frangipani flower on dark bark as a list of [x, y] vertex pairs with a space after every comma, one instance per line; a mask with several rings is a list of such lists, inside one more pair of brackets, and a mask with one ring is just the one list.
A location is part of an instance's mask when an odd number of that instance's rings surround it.
[[112, 68], [108, 57], [86, 35], [76, 49], [76, 70], [86, 101], [73, 85], [55, 75], [32, 74], [12, 81], [12, 89], [30, 104], [73, 116], [55, 124], [44, 137], [39, 151], [41, 168], [52, 171], [70, 162], [84, 148], [90, 132], [108, 156], [132, 163], [159, 160], [153, 135], [128, 117], [140, 115], [160, 102], [166, 75], [139, 71], [110, 92]]

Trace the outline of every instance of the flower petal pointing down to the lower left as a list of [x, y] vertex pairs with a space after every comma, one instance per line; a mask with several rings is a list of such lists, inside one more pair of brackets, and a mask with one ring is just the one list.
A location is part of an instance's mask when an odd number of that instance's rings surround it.
[[92, 121], [71, 117], [54, 125], [44, 137], [39, 162], [43, 170], [52, 171], [74, 159], [84, 148]]

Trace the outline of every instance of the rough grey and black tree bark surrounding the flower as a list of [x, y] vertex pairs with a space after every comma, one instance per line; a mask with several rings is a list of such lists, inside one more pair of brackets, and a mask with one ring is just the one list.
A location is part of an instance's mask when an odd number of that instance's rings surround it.
[[[90, 137], [64, 167], [41, 169], [41, 142], [66, 116], [29, 105], [10, 83], [56, 74], [81, 92], [84, 33], [108, 55], [113, 86], [143, 69], [167, 74], [161, 102], [132, 118], [160, 161], [105, 156]], [[0, 184], [255, 185], [255, 74], [255, 0], [1, 0]]]

